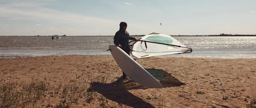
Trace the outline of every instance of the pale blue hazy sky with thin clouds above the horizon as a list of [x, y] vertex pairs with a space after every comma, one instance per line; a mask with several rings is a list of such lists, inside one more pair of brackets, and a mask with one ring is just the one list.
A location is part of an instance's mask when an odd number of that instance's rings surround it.
[[[0, 36], [256, 34], [256, 0], [0, 0]], [[162, 23], [162, 25], [160, 25]]]

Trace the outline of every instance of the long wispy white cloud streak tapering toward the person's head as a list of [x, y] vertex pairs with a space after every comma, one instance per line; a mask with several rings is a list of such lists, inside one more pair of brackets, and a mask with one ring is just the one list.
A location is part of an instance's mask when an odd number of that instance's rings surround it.
[[[13, 8], [13, 6], [16, 6]], [[18, 7], [18, 8], [17, 8]], [[55, 24], [67, 24], [67, 23], [97, 23], [104, 25], [113, 25], [119, 22], [113, 20], [104, 19], [100, 17], [92, 17], [82, 14], [75, 14], [69, 11], [58, 11], [50, 8], [44, 8], [38, 6], [38, 4], [9, 4], [0, 5], [0, 17], [7, 17], [10, 20], [45, 20], [47, 22], [55, 22]], [[61, 17], [60, 17], [61, 16]], [[72, 21], [72, 22], [70, 22]], [[40, 25], [40, 24], [37, 24]]]

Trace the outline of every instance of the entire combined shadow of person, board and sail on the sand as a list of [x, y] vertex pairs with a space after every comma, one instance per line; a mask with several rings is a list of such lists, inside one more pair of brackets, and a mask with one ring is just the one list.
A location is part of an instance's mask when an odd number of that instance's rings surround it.
[[[185, 85], [162, 69], [146, 70], [159, 80], [163, 87]], [[150, 103], [145, 102], [140, 97], [134, 96], [134, 94], [131, 94], [128, 91], [128, 89], [148, 89], [148, 87], [142, 86], [130, 79], [124, 80], [120, 77], [112, 83], [91, 83], [91, 86], [94, 91], [97, 91], [109, 100], [115, 101], [119, 104], [128, 105], [133, 108], [154, 108]]]

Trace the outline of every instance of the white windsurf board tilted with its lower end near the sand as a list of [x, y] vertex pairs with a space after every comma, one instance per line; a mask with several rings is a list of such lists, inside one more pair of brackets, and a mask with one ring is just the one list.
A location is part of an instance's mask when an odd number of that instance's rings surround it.
[[134, 80], [143, 86], [163, 88], [162, 84], [159, 83], [157, 79], [140, 66], [140, 64], [134, 61], [134, 59], [121, 48], [116, 45], [109, 45], [108, 47], [118, 66], [129, 78], [131, 78], [131, 80]]

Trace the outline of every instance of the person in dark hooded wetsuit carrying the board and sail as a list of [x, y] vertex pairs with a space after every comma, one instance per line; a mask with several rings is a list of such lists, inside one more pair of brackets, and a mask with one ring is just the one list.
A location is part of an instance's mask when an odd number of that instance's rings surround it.
[[[115, 36], [114, 36], [114, 44], [120, 48], [122, 48], [122, 50], [125, 51], [125, 53], [127, 53], [128, 55], [130, 55], [130, 46], [129, 46], [129, 40], [135, 40], [138, 41], [138, 39], [131, 37], [129, 35], [129, 33], [126, 31], [127, 28], [127, 23], [126, 22], [120, 22], [119, 24], [119, 30], [116, 32]], [[122, 72], [122, 78], [125, 79], [126, 75], [124, 72]]]

